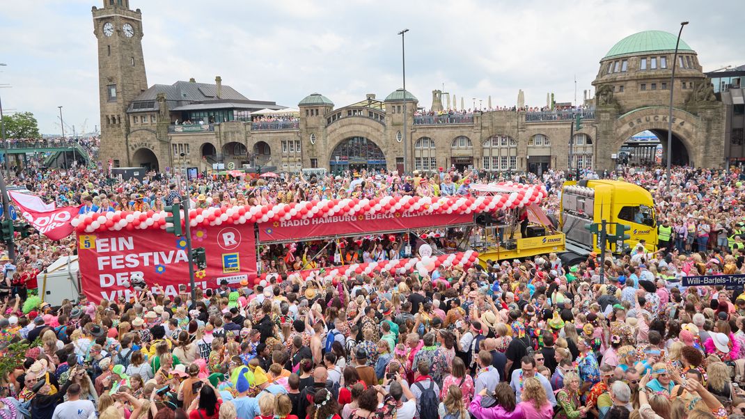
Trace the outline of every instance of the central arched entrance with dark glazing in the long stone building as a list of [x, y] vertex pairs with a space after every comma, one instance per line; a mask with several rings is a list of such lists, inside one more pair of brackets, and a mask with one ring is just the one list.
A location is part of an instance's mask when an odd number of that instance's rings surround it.
[[331, 153], [329, 159], [332, 173], [342, 173], [345, 170], [385, 170], [385, 156], [383, 150], [373, 141], [364, 137], [350, 137], [341, 141]]

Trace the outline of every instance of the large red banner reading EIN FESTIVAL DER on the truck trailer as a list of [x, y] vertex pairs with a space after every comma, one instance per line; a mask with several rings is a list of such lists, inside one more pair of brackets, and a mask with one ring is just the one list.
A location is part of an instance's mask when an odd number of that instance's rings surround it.
[[[196, 287], [217, 288], [256, 278], [256, 240], [253, 224], [191, 228], [192, 247], [206, 249], [207, 269], [194, 275]], [[186, 240], [165, 230], [97, 231], [79, 233], [78, 258], [82, 287], [90, 301], [129, 299], [132, 275], [142, 275], [148, 287], [161, 285], [165, 294], [189, 292]]]

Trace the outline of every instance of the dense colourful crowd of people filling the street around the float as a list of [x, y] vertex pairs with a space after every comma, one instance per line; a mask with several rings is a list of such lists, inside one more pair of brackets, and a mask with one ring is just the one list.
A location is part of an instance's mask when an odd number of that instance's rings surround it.
[[[51, 307], [37, 275], [75, 254], [75, 237], [18, 237], [16, 260], [1, 257], [0, 418], [744, 418], [745, 294], [681, 278], [745, 272], [745, 176], [679, 167], [668, 190], [655, 167], [582, 175], [647, 188], [659, 250], [303, 281], [289, 272], [338, 261], [310, 257], [323, 243], [274, 245], [260, 258], [278, 275], [256, 287], [221, 284], [192, 301], [186, 288], [167, 298], [150, 284], [128, 301]], [[557, 211], [563, 172], [496, 177], [545, 185], [545, 210]], [[188, 195], [203, 207], [266, 205], [467, 195], [492, 180], [478, 170], [204, 176]], [[19, 170], [9, 183], [83, 204], [81, 214], [161, 209], [184, 193], [163, 175], [124, 181], [85, 168]], [[426, 240], [453, 249], [458, 234]], [[384, 260], [419, 243], [357, 237], [335, 254]]]

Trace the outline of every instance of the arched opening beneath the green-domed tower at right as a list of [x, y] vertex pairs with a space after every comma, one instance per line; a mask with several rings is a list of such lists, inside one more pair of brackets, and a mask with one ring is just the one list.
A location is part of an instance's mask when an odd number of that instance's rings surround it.
[[[688, 148], [673, 132], [671, 164], [685, 166], [690, 163]], [[647, 129], [627, 138], [616, 155], [616, 164], [624, 166], [654, 166], [668, 161], [668, 130]]]

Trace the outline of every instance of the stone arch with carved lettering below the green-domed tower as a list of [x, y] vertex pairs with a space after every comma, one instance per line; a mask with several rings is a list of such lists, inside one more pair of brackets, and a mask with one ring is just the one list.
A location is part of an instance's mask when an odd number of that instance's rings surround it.
[[[664, 140], [661, 138], [660, 142], [663, 150], [665, 150], [663, 153], [667, 153], [668, 112], [669, 108], [667, 106], [647, 106], [621, 115], [615, 121], [615, 135], [612, 138], [612, 144], [609, 144], [608, 151], [618, 153], [618, 150], [621, 149], [628, 138], [638, 132], [649, 130], [665, 138]], [[673, 108], [673, 146], [677, 141], [678, 144], [685, 147], [688, 164], [703, 161], [702, 151], [695, 145], [698, 119], [697, 116], [682, 109]], [[673, 147], [674, 149], [675, 147]]]

